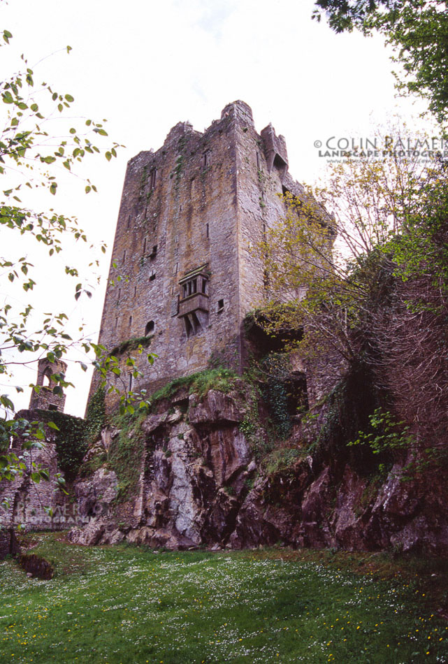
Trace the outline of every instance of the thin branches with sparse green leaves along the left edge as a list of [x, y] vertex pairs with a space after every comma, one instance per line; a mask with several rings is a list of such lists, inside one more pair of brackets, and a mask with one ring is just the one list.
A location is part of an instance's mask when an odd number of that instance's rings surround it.
[[[12, 34], [3, 30], [3, 48], [8, 45]], [[66, 48], [70, 52], [71, 48]], [[75, 126], [73, 120], [66, 120], [66, 129], [61, 131], [60, 122], [55, 129], [55, 117], [66, 117], [73, 105], [73, 96], [56, 91], [46, 82], [36, 84], [36, 73], [22, 56], [20, 70], [0, 82], [1, 107], [3, 108], [3, 129], [0, 134], [0, 177], [3, 179], [0, 200], [0, 226], [2, 249], [0, 254], [0, 279], [3, 291], [21, 287], [30, 298], [36, 286], [34, 265], [20, 254], [15, 247], [21, 241], [27, 246], [40, 245], [48, 254], [48, 259], [64, 250], [68, 238], [78, 243], [87, 243], [87, 236], [73, 217], [50, 207], [41, 208], [44, 191], [48, 196], [56, 196], [61, 188], [61, 171], [75, 171], [86, 159], [95, 154], [103, 154], [108, 161], [117, 155], [117, 143], [106, 147], [107, 137], [103, 122], [85, 120], [82, 126]], [[100, 143], [97, 145], [97, 142]], [[63, 178], [62, 178], [63, 180]], [[96, 192], [90, 180], [83, 180], [85, 192]], [[105, 247], [101, 250], [104, 252]], [[4, 253], [3, 253], [4, 252]], [[64, 255], [64, 254], [62, 254]], [[91, 296], [80, 280], [78, 268], [66, 264], [64, 272], [75, 280], [73, 296]], [[31, 299], [27, 305], [16, 305], [16, 298], [6, 296], [0, 306], [0, 374], [13, 377], [15, 366], [29, 364], [46, 356], [51, 362], [63, 358], [71, 346], [81, 343], [86, 353], [94, 354], [94, 366], [106, 382], [109, 373], [120, 375], [116, 358], [107, 349], [81, 338], [74, 340], [66, 331], [68, 317], [64, 312], [50, 312], [42, 319], [34, 311]], [[144, 352], [138, 347], [136, 352]], [[147, 354], [152, 361], [152, 355]], [[86, 360], [87, 361], [87, 360]], [[80, 363], [87, 370], [86, 363]], [[135, 361], [127, 360], [134, 375], [138, 375]], [[59, 394], [70, 383], [62, 373], [52, 375], [54, 391]], [[31, 386], [38, 391], [38, 386]], [[23, 391], [22, 387], [15, 388]], [[115, 389], [111, 387], [110, 389]], [[138, 396], [122, 394], [122, 408], [133, 410], [132, 402]], [[24, 457], [18, 457], [9, 448], [11, 437], [20, 435], [24, 449], [32, 450], [43, 445], [45, 430], [41, 422], [29, 422], [24, 418], [14, 418], [15, 406], [9, 394], [0, 394], [0, 405], [5, 416], [0, 419], [0, 479], [13, 479], [17, 472], [23, 472]], [[47, 426], [57, 428], [49, 422]], [[31, 477], [34, 481], [46, 479], [45, 469], [33, 465]]]

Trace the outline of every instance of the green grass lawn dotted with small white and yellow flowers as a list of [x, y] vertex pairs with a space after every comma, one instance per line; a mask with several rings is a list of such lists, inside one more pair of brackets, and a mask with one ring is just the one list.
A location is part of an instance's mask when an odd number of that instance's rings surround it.
[[[382, 556], [33, 537], [57, 573], [28, 579], [0, 563], [1, 663], [448, 663], [447, 621], [419, 573]], [[440, 570], [427, 577], [445, 584]]]

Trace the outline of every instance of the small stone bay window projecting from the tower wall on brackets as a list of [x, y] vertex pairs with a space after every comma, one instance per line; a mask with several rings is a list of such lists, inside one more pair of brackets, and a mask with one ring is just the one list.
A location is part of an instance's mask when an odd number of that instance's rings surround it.
[[187, 273], [179, 282], [179, 318], [182, 318], [187, 336], [192, 336], [208, 324], [208, 264]]

